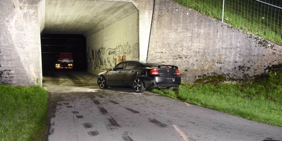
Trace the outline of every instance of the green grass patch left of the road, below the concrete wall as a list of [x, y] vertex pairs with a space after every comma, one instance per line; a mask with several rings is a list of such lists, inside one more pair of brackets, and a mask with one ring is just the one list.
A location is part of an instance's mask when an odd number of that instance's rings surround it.
[[42, 140], [48, 92], [40, 86], [0, 85], [0, 140]]

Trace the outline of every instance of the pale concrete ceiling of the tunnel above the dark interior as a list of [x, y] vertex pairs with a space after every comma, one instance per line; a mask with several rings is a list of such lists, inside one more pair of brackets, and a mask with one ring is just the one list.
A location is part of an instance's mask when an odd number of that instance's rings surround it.
[[46, 0], [43, 33], [88, 37], [136, 11], [130, 2]]

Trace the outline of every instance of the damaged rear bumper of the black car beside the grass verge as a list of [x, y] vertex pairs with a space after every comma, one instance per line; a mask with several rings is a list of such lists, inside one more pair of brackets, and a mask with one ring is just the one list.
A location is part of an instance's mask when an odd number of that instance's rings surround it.
[[165, 87], [172, 86], [177, 87], [181, 83], [180, 76], [144, 76], [142, 78], [144, 86], [147, 87]]

